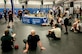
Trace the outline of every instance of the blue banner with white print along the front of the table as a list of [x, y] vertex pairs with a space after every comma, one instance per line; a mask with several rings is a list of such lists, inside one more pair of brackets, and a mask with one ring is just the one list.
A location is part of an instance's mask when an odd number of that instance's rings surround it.
[[42, 25], [43, 23], [48, 23], [48, 19], [45, 17], [22, 17], [22, 22], [25, 24], [36, 24]]

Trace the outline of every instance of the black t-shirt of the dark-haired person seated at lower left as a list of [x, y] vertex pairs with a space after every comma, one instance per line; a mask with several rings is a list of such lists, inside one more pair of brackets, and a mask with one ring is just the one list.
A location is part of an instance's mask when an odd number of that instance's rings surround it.
[[1, 37], [1, 41], [2, 41], [2, 44], [1, 44], [1, 48], [3, 51], [9, 51], [12, 49], [11, 45], [12, 45], [12, 37], [11, 36], [2, 36]]

